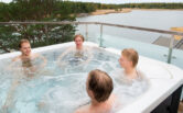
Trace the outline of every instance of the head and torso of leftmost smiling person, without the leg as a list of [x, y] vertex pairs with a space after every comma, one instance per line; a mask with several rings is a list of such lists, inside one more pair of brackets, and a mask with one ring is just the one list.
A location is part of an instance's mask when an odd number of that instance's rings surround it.
[[43, 56], [31, 53], [31, 44], [28, 39], [21, 39], [19, 48], [21, 55], [12, 59], [11, 69], [23, 68], [24, 75], [32, 77], [34, 72], [46, 65], [46, 59]]

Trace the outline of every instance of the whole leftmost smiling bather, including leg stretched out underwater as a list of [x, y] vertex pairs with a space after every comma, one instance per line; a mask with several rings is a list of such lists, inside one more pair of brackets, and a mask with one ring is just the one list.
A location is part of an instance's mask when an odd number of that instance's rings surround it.
[[8, 67], [8, 69], [14, 74], [14, 77], [10, 90], [8, 91], [4, 105], [2, 106], [3, 113], [7, 113], [8, 108], [13, 104], [13, 94], [21, 83], [21, 80], [35, 77], [35, 74], [46, 65], [46, 59], [43, 56], [31, 53], [31, 45], [28, 39], [21, 39], [19, 48], [21, 55], [13, 58], [12, 63]]

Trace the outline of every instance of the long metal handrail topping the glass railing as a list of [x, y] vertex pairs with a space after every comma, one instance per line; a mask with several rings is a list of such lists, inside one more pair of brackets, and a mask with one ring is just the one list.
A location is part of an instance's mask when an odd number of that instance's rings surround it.
[[116, 26], [116, 27], [183, 36], [182, 32], [148, 29], [148, 27], [140, 27], [140, 26], [122, 25], [122, 24], [103, 23], [103, 22], [68, 22], [68, 21], [64, 21], [64, 22], [0, 22], [0, 25], [6, 25], [6, 24], [99, 24], [99, 25]]

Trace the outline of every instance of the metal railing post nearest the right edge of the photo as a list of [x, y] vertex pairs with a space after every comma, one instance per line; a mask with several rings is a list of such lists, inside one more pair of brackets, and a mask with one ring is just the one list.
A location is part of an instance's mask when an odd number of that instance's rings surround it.
[[168, 64], [171, 64], [172, 60], [173, 43], [174, 43], [174, 35], [172, 35], [169, 44]]

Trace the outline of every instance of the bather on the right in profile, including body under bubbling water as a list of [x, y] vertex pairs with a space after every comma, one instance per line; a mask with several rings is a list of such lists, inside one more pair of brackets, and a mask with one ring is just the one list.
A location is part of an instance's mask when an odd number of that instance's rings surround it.
[[116, 87], [114, 93], [120, 97], [122, 104], [128, 104], [149, 89], [149, 80], [137, 69], [139, 55], [133, 48], [125, 48], [119, 58], [118, 68], [111, 72]]

